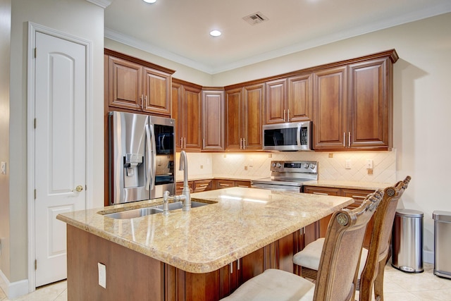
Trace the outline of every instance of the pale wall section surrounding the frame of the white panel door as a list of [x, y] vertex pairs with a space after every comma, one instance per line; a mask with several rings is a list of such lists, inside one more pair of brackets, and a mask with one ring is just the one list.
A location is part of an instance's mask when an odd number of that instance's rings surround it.
[[[92, 145], [94, 207], [104, 192], [104, 10], [85, 0], [14, 0], [11, 23], [9, 171], [9, 257], [0, 269], [11, 283], [27, 279], [27, 22], [37, 23], [92, 42]], [[13, 138], [12, 138], [13, 137]], [[3, 142], [2, 142], [3, 143]], [[2, 159], [3, 160], [3, 159]], [[32, 172], [32, 171], [30, 171]], [[5, 254], [5, 255], [4, 255]], [[10, 266], [4, 266], [4, 261]]]

